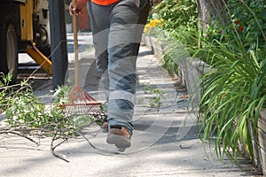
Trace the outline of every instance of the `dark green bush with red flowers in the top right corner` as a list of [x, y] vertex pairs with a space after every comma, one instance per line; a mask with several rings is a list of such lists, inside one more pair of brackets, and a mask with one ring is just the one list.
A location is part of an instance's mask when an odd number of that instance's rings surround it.
[[239, 32], [239, 37], [247, 50], [266, 47], [266, 1], [265, 0], [229, 0], [228, 7], [232, 22]]

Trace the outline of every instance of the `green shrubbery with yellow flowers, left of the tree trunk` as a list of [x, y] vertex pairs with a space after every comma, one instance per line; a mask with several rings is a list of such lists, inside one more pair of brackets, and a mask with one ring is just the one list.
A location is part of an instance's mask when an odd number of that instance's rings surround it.
[[[146, 27], [149, 29], [147, 35], [156, 36], [160, 42], [167, 45], [160, 62], [171, 75], [179, 74], [179, 61], [184, 60], [184, 56], [188, 57], [187, 49], [197, 45], [194, 39], [189, 41], [184, 38], [185, 34], [193, 34], [197, 30], [197, 13], [194, 0], [181, 0], [178, 3], [175, 0], [166, 0], [153, 7], [149, 18], [151, 24]], [[177, 49], [181, 46], [176, 42], [184, 44], [182, 50]]]

